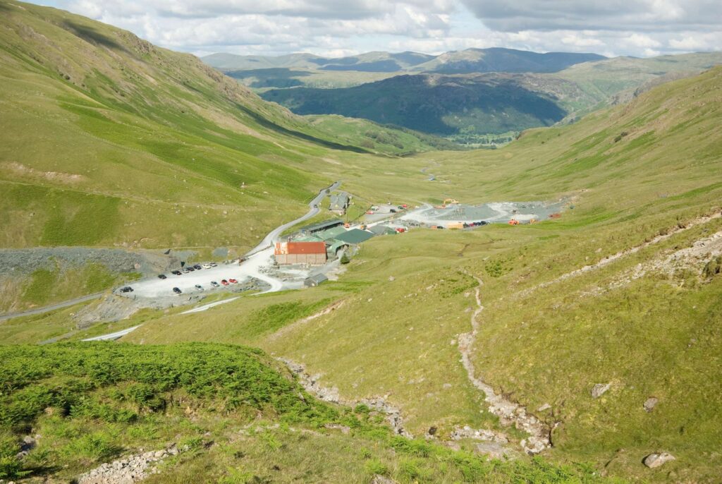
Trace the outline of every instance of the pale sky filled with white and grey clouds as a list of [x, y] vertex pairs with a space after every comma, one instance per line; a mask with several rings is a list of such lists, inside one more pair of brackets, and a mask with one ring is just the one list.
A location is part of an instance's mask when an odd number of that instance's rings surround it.
[[160, 46], [343, 56], [509, 47], [606, 56], [722, 50], [722, 0], [35, 0]]

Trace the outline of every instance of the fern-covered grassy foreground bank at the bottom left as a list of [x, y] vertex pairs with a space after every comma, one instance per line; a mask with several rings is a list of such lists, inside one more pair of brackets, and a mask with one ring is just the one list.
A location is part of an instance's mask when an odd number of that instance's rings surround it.
[[[0, 478], [73, 480], [139, 447], [175, 442], [181, 455], [149, 482], [369, 482], [378, 474], [403, 483], [604, 482], [580, 467], [488, 462], [391, 436], [367, 407], [318, 402], [247, 347], [100, 343], [0, 354]], [[28, 432], [37, 445], [19, 462]]]

